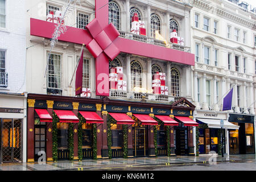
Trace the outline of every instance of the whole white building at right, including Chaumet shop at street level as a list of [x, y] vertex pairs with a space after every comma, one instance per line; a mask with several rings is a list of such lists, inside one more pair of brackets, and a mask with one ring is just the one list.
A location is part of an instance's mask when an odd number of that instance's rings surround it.
[[[217, 152], [214, 140], [218, 136], [220, 119], [212, 115], [223, 115], [233, 126], [225, 130], [227, 154], [255, 153], [254, 123], [254, 60], [256, 14], [245, 3], [225, 0], [193, 0], [191, 10], [191, 49], [195, 53], [192, 67], [192, 96], [196, 105], [194, 117], [202, 118], [209, 129], [200, 130], [200, 154], [209, 150]], [[255, 9], [253, 9], [255, 10]], [[223, 97], [233, 87], [232, 110], [221, 111]], [[210, 116], [210, 117], [209, 117]], [[217, 118], [217, 117], [216, 117]]]

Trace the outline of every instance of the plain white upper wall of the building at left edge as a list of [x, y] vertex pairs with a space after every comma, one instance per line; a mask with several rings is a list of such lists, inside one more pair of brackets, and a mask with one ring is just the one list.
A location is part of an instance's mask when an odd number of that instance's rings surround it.
[[0, 28], [0, 49], [6, 51], [8, 87], [4, 93], [26, 91], [26, 5], [25, 1], [6, 1], [6, 28]]

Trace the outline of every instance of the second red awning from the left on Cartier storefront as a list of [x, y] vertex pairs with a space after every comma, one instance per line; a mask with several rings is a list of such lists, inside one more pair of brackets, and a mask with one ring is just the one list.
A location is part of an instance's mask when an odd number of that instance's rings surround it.
[[79, 123], [79, 118], [71, 110], [53, 110], [61, 123]]

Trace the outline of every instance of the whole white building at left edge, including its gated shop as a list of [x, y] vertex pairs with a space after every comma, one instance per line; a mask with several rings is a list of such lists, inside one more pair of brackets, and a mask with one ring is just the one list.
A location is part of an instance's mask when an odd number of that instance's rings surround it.
[[0, 163], [26, 162], [26, 10], [0, 1]]

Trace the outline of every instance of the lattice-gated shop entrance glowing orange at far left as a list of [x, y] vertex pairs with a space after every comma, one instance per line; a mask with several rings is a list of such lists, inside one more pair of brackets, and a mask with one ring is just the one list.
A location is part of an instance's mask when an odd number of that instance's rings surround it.
[[1, 155], [0, 162], [21, 162], [22, 119], [0, 119]]

